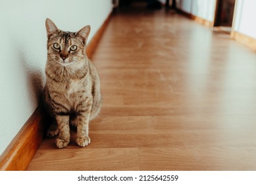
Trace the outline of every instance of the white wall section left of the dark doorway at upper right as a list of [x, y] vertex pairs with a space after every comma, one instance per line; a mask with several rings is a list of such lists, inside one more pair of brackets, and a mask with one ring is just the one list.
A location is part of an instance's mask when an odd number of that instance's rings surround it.
[[176, 0], [178, 9], [214, 21], [216, 0]]

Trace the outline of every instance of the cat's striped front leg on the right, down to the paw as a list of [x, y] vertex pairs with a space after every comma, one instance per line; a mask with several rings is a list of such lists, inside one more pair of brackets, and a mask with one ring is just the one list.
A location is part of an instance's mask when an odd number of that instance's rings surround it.
[[92, 105], [92, 97], [87, 97], [83, 105], [78, 106], [77, 108], [77, 138], [76, 143], [80, 147], [86, 147], [91, 143], [89, 137], [89, 121], [90, 121], [90, 112]]

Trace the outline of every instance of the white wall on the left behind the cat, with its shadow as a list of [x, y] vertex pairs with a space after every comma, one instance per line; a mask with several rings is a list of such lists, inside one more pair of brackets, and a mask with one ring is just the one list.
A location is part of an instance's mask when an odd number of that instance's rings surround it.
[[0, 1], [0, 154], [38, 106], [47, 58], [45, 18], [89, 41], [112, 11], [111, 0]]

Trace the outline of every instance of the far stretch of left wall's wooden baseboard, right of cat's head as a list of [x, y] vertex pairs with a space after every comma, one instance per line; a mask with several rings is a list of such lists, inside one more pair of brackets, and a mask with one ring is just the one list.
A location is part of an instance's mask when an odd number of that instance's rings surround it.
[[90, 42], [88, 43], [88, 46], [86, 47], [86, 53], [87, 53], [88, 58], [92, 57], [93, 52], [95, 51], [95, 49], [96, 49], [96, 47], [97, 47], [97, 45], [99, 43], [99, 40], [101, 39], [101, 36], [103, 35], [105, 29], [107, 28], [107, 24], [109, 24], [109, 20], [111, 18], [111, 14], [112, 14], [112, 12], [109, 14], [109, 16], [103, 22], [103, 24], [101, 25], [99, 30], [97, 30], [95, 35], [93, 35], [93, 37], [91, 38]]

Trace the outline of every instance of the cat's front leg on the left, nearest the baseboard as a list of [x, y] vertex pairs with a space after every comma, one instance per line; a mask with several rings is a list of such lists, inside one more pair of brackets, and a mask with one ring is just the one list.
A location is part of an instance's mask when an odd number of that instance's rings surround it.
[[69, 128], [69, 116], [57, 115], [56, 116], [59, 137], [56, 139], [56, 146], [59, 149], [66, 147], [70, 141], [70, 128]]

